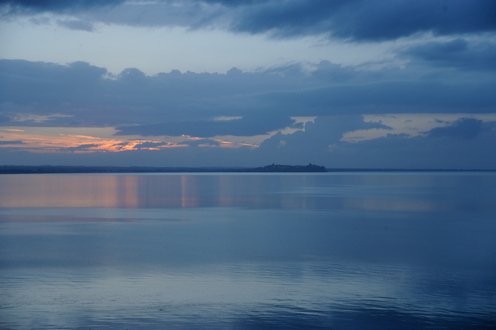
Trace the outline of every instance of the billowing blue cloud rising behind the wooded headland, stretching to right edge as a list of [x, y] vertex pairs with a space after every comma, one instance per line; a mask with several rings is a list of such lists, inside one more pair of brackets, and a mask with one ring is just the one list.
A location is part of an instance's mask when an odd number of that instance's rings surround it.
[[496, 169], [496, 122], [482, 123], [475, 136], [477, 123], [457, 122], [452, 127], [469, 126], [469, 138], [448, 129], [438, 135], [387, 134], [350, 143], [340, 141], [344, 132], [371, 123], [353, 116], [317, 117], [315, 123], [307, 124], [305, 132], [273, 135], [253, 150], [251, 157], [262, 163], [307, 161], [331, 168]]

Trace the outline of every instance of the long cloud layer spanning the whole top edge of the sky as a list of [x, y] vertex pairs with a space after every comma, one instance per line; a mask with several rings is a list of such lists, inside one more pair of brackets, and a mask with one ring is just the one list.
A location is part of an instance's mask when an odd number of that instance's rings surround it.
[[140, 26], [221, 26], [237, 32], [291, 37], [326, 33], [354, 40], [393, 40], [419, 32], [435, 35], [496, 29], [492, 0], [121, 0], [1, 1], [7, 14], [70, 12], [86, 21]]

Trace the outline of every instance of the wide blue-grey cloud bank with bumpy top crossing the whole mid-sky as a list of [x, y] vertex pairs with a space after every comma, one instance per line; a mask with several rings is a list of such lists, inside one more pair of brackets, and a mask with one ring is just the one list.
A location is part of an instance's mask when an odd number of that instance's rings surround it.
[[[0, 86], [0, 116], [10, 119], [3, 125], [114, 126], [143, 136], [250, 136], [291, 126], [293, 116], [487, 113], [496, 106], [491, 71], [418, 63], [364, 71], [322, 61], [310, 74], [295, 65], [266, 73], [232, 68], [147, 76], [136, 68], [112, 75], [84, 62], [0, 60]], [[48, 117], [20, 121], [26, 115]], [[218, 116], [243, 118], [215, 121]]]

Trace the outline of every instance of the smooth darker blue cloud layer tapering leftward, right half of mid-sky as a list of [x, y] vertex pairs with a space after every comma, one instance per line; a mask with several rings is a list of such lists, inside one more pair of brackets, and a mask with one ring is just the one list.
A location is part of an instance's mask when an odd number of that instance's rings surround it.
[[419, 112], [420, 109], [426, 108], [431, 109], [423, 112], [432, 112], [434, 109], [446, 112], [441, 109], [482, 108], [495, 105], [496, 100], [492, 96], [492, 88], [496, 87], [494, 82], [480, 84], [477, 89], [474, 85], [470, 86], [471, 83], [453, 82], [441, 79], [413, 81], [384, 79], [362, 84], [324, 85], [297, 91], [268, 91], [251, 95], [249, 100], [248, 97], [244, 100], [257, 107], [277, 105], [288, 110], [307, 109], [308, 112], [302, 111], [301, 116], [310, 116], [310, 113], [322, 116], [350, 112], [362, 114], [374, 113], [374, 111], [375, 113], [409, 112], [407, 109]]

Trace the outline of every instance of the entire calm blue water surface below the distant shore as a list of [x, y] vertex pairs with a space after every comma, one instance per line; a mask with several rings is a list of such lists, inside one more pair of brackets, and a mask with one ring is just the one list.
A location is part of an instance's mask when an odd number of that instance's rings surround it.
[[0, 329], [496, 329], [496, 174], [0, 176]]

